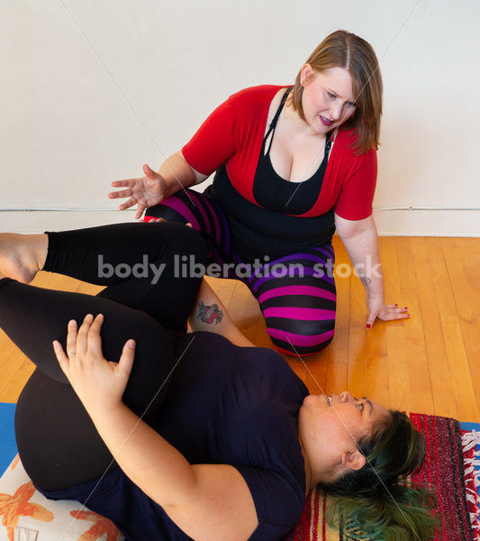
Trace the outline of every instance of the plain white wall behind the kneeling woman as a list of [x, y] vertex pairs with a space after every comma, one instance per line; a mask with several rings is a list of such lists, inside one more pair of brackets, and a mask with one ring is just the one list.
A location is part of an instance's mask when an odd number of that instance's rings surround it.
[[0, 0], [0, 230], [131, 220], [112, 180], [157, 169], [232, 92], [293, 83], [342, 28], [384, 78], [380, 233], [478, 235], [479, 21], [477, 0]]

